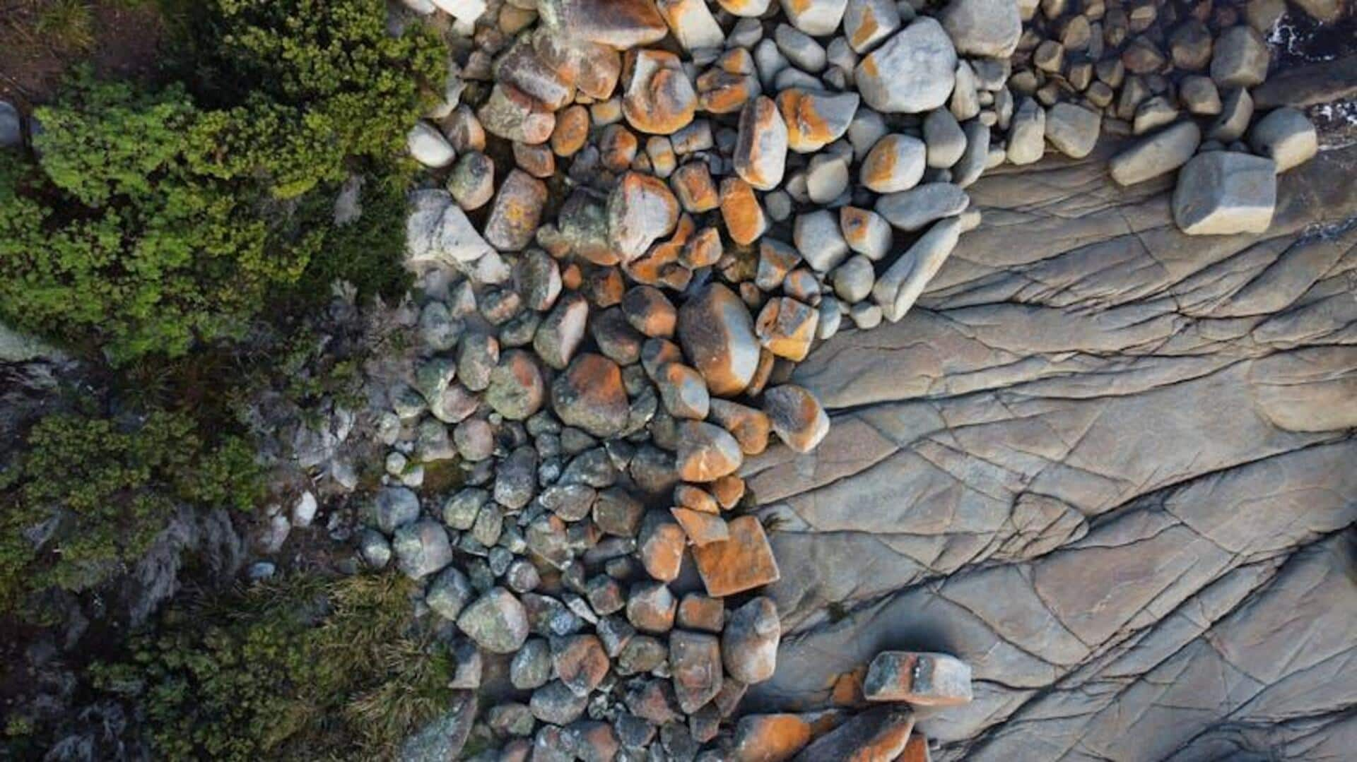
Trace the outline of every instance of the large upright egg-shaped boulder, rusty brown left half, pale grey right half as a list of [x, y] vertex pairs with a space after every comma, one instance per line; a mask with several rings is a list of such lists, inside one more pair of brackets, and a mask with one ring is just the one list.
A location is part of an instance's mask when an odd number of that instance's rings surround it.
[[678, 309], [678, 343], [714, 396], [745, 390], [759, 366], [749, 309], [721, 283], [706, 286]]

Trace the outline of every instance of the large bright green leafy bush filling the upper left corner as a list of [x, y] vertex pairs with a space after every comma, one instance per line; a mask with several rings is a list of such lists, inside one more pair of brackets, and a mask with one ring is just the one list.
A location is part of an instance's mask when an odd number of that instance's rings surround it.
[[[84, 71], [37, 113], [38, 164], [0, 157], [0, 319], [125, 365], [240, 338], [319, 278], [403, 286], [399, 156], [437, 39], [387, 35], [381, 0], [214, 0], [189, 30], [193, 77]], [[337, 226], [350, 172], [365, 213]]]

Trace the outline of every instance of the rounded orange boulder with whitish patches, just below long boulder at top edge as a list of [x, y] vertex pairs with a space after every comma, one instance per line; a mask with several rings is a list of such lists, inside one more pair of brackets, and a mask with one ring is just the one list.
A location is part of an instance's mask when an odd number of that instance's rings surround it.
[[627, 85], [622, 113], [631, 126], [668, 136], [692, 122], [697, 92], [673, 53], [632, 50], [627, 53], [622, 77]]

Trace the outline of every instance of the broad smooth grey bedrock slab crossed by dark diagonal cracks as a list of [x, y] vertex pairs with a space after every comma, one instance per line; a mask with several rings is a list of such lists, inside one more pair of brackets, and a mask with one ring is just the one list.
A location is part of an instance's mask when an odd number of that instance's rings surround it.
[[1168, 178], [1107, 178], [1125, 145], [987, 174], [904, 320], [798, 366], [833, 426], [742, 470], [784, 628], [748, 710], [943, 651], [974, 700], [919, 720], [934, 759], [1349, 754], [1357, 148], [1193, 239]]

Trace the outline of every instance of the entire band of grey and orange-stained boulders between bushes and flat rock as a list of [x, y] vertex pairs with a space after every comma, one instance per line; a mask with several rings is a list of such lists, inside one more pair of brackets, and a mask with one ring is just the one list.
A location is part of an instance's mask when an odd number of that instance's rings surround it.
[[[1118, 182], [1246, 156], [1257, 30], [1209, 0], [404, 4], [463, 45], [410, 134], [422, 359], [361, 550], [427, 582], [455, 685], [502, 697], [484, 758], [927, 758], [909, 708], [970, 698], [946, 655], [882, 654], [851, 719], [731, 717], [780, 637], [741, 465], [820, 443], [794, 363], [908, 312], [987, 168], [1087, 156], [1105, 117], [1147, 136]], [[1246, 146], [1273, 184], [1304, 153], [1285, 111]], [[1160, 169], [1196, 117], [1231, 132]], [[1248, 217], [1232, 167], [1189, 174], [1190, 232]]]

